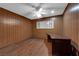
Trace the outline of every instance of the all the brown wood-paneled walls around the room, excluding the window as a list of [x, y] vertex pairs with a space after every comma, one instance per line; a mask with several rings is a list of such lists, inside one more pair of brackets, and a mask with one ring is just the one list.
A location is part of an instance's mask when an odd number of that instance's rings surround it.
[[54, 29], [36, 29], [36, 20], [31, 21], [0, 8], [0, 48], [30, 37], [46, 39], [47, 33], [55, 33], [71, 38], [79, 50], [79, 9], [75, 10], [76, 6], [77, 3], [69, 4], [63, 16], [54, 17]]

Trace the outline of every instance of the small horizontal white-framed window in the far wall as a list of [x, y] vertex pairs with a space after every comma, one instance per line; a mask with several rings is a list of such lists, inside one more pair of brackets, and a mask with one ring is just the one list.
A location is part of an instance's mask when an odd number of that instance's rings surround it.
[[45, 21], [37, 21], [36, 28], [37, 29], [53, 29], [54, 28], [54, 18], [45, 20]]

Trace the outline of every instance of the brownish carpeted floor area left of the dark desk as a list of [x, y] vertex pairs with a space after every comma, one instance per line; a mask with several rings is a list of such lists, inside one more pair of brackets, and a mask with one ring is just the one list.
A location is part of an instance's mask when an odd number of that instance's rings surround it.
[[2, 56], [48, 56], [48, 49], [42, 39], [28, 39], [0, 49]]

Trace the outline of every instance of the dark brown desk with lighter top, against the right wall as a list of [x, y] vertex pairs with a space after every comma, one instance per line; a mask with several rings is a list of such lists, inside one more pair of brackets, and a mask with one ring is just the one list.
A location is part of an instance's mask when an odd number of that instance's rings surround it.
[[48, 34], [48, 42], [52, 43], [52, 54], [57, 56], [72, 55], [71, 40], [66, 36]]

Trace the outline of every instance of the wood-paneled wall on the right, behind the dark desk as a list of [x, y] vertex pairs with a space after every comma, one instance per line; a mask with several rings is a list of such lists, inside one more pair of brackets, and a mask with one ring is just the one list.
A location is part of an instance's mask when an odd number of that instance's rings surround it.
[[77, 48], [79, 46], [79, 4], [69, 4], [63, 16], [64, 35], [72, 39], [72, 44]]

